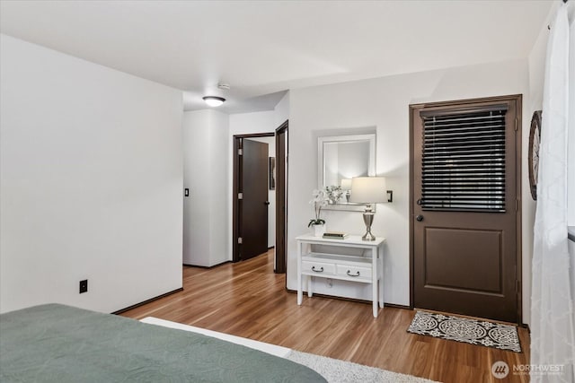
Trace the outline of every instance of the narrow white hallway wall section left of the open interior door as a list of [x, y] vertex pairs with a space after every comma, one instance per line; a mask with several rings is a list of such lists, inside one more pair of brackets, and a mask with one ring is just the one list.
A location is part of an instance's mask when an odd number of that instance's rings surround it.
[[183, 263], [213, 266], [228, 259], [231, 178], [227, 172], [228, 116], [214, 109], [183, 116]]

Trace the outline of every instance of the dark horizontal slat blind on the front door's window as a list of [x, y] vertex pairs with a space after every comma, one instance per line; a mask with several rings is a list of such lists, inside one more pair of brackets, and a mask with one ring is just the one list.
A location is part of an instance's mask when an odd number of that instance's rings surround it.
[[506, 112], [421, 112], [423, 210], [505, 212]]

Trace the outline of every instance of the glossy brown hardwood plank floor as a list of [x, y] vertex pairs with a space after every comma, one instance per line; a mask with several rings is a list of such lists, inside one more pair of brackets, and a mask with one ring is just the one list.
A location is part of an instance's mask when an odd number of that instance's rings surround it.
[[[445, 341], [406, 332], [415, 311], [286, 292], [285, 275], [273, 273], [273, 250], [212, 269], [184, 267], [182, 292], [131, 309], [128, 318], [155, 317], [261, 342], [442, 382], [526, 382], [513, 365], [529, 361], [529, 335], [519, 328], [524, 353]], [[508, 363], [506, 379], [491, 364]]]

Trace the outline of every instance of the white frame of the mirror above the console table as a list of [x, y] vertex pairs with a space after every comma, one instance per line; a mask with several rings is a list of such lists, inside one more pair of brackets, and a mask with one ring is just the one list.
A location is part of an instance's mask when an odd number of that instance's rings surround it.
[[[376, 134], [369, 133], [365, 135], [328, 135], [317, 137], [317, 187], [323, 189], [325, 161], [323, 158], [323, 145], [342, 142], [367, 141], [369, 144], [369, 160], [367, 163], [367, 175], [373, 177], [376, 175]], [[366, 204], [357, 204], [353, 202], [344, 202], [330, 204], [323, 207], [324, 210], [343, 210], [349, 212], [363, 212]], [[373, 205], [375, 210], [375, 205]]]

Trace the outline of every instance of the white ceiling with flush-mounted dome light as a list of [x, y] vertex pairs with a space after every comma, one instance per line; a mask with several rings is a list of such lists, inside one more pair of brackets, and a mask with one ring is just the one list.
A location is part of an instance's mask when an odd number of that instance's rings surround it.
[[[204, 95], [273, 109], [288, 89], [525, 58], [552, 1], [8, 1], [0, 30]], [[217, 83], [229, 83], [220, 91]]]

